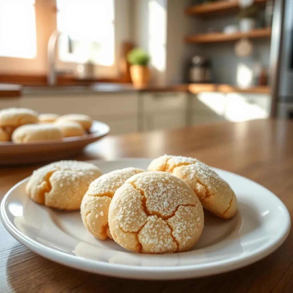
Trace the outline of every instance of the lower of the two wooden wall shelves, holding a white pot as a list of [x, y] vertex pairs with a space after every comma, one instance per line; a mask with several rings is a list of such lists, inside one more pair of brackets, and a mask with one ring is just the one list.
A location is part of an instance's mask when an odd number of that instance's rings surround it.
[[228, 42], [235, 41], [241, 38], [267, 38], [271, 35], [270, 28], [258, 28], [251, 30], [247, 33], [236, 32], [232, 34], [226, 33], [207, 33], [207, 34], [197, 34], [191, 35], [185, 38], [186, 43], [195, 44], [206, 44], [206, 43], [217, 43], [217, 42]]

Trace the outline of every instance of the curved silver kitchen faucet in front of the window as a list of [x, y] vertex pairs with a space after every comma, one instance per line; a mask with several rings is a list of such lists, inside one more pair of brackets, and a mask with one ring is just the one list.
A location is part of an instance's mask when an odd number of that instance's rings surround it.
[[[56, 77], [57, 75], [66, 74], [72, 72], [71, 70], [59, 70], [56, 68], [56, 62], [55, 62], [55, 47], [56, 43], [58, 41], [59, 36], [63, 34], [59, 30], [54, 30], [54, 32], [50, 35], [49, 41], [48, 41], [48, 72], [47, 72], [47, 83], [50, 86], [53, 86], [56, 84]], [[72, 53], [72, 41], [67, 35], [68, 38], [68, 52]]]

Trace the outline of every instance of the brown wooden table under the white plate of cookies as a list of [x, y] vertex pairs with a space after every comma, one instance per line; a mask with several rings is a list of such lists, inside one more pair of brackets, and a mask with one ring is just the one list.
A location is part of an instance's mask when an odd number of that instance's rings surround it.
[[[223, 122], [109, 136], [77, 159], [151, 158], [164, 153], [197, 157], [255, 180], [293, 212], [293, 121]], [[1, 196], [38, 166], [0, 168]], [[139, 281], [53, 263], [18, 243], [0, 225], [0, 292], [293, 292], [293, 232], [277, 251], [246, 268], [199, 279]]]

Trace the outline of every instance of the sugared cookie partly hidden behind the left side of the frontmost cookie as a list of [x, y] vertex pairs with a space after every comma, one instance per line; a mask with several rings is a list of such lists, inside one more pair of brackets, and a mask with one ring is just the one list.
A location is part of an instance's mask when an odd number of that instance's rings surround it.
[[94, 180], [81, 202], [80, 212], [84, 226], [98, 239], [112, 239], [108, 226], [108, 209], [115, 191], [131, 176], [145, 172], [138, 168], [124, 168]]

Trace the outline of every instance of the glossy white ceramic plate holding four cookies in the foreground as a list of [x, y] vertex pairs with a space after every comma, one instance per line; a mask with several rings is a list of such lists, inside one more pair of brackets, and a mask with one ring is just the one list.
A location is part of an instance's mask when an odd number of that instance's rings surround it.
[[[128, 166], [147, 168], [148, 159], [95, 161], [103, 173]], [[238, 212], [219, 219], [205, 211], [202, 236], [191, 251], [147, 255], [98, 240], [84, 228], [79, 212], [38, 205], [25, 194], [28, 179], [1, 202], [8, 232], [36, 253], [58, 263], [104, 275], [136, 279], [180, 279], [234, 270], [272, 253], [286, 239], [290, 217], [285, 205], [263, 186], [214, 168], [234, 189]]]

